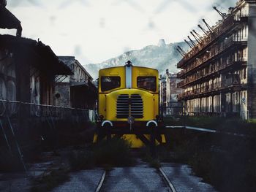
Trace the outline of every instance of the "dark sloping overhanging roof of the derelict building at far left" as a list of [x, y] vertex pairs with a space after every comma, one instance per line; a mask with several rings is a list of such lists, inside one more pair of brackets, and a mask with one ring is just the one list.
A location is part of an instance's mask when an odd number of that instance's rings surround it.
[[0, 35], [0, 50], [8, 50], [23, 63], [29, 63], [48, 74], [69, 75], [72, 71], [53, 53], [48, 45], [33, 39]]

